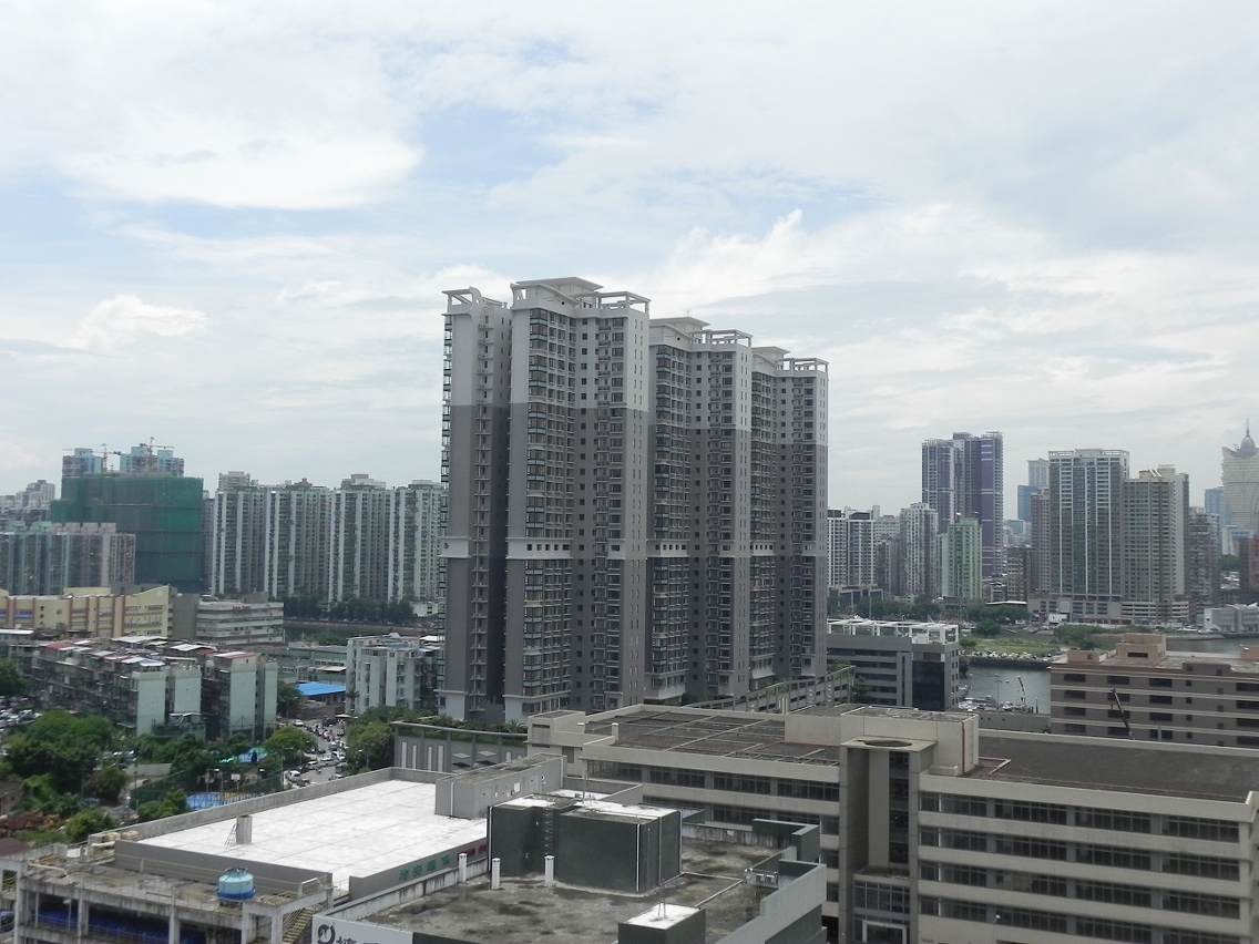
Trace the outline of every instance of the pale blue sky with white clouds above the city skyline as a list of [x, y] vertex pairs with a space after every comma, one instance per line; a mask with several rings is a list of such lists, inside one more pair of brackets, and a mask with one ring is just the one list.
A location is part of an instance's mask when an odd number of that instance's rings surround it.
[[1259, 6], [0, 0], [0, 493], [439, 467], [443, 289], [579, 276], [830, 364], [830, 505], [923, 439], [1251, 415]]

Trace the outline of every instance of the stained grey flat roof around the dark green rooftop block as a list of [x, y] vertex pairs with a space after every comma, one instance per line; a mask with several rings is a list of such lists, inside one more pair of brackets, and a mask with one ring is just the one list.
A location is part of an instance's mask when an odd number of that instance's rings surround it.
[[[706, 911], [706, 936], [720, 940], [760, 913], [772, 889], [747, 885], [745, 868], [771, 850], [725, 842], [682, 841], [682, 874], [645, 895], [543, 886], [541, 876], [504, 879], [497, 891], [488, 877], [457, 885], [418, 901], [371, 915], [371, 924], [424, 931], [486, 944], [598, 944], [616, 940], [617, 924], [657, 907], [699, 906]], [[715, 897], [714, 897], [715, 896]], [[711, 900], [708, 900], [711, 899]]]

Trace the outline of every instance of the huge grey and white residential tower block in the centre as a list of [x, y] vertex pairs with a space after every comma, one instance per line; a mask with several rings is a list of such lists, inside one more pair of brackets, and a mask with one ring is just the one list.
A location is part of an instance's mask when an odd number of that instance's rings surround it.
[[826, 365], [578, 278], [447, 292], [446, 705], [825, 671]]

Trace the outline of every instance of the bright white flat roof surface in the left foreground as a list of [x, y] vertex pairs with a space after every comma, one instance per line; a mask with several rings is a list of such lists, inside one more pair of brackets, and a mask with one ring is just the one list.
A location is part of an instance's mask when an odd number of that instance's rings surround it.
[[437, 816], [436, 797], [434, 784], [387, 780], [254, 813], [248, 846], [227, 845], [235, 823], [232, 817], [141, 845], [331, 872], [334, 884], [344, 889], [351, 875], [400, 868], [452, 846], [485, 840], [485, 819]]

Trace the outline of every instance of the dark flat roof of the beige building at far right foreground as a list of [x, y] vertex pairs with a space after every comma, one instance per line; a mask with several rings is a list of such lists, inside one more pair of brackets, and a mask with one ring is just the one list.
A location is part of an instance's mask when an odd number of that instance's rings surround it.
[[986, 763], [971, 777], [1233, 802], [1259, 790], [1259, 751], [1246, 748], [1194, 750], [1051, 734], [1003, 738], [985, 731], [980, 753]]

